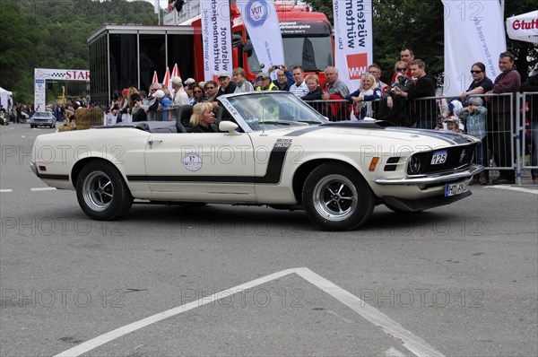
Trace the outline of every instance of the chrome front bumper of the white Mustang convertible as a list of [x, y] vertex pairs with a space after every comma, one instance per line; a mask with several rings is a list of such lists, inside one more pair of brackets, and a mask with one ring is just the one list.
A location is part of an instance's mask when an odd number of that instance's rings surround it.
[[482, 165], [472, 164], [465, 170], [407, 176], [404, 179], [376, 179], [377, 185], [435, 185], [468, 179], [484, 170]]

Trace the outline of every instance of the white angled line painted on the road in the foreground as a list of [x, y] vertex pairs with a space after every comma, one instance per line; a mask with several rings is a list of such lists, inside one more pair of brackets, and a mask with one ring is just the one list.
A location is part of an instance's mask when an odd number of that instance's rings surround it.
[[377, 327], [381, 327], [387, 334], [393, 335], [394, 337], [402, 340], [404, 342], [404, 347], [407, 348], [412, 353], [414, 353], [415, 355], [439, 356], [439, 357], [443, 356], [443, 354], [439, 353], [435, 348], [431, 347], [429, 344], [426, 344], [424, 341], [422, 341], [421, 338], [419, 338], [416, 335], [412, 335], [411, 332], [405, 330], [404, 327], [401, 327], [392, 318], [387, 317], [382, 312], [378, 311], [377, 309], [374, 309], [373, 307], [369, 306], [369, 304], [367, 304], [366, 302], [352, 295], [350, 292], [346, 292], [339, 286], [326, 280], [324, 277], [312, 272], [310, 269], [302, 267], [302, 268], [286, 269], [286, 270], [282, 270], [282, 272], [269, 274], [264, 277], [253, 280], [251, 282], [243, 283], [241, 285], [235, 286], [228, 290], [217, 292], [208, 297], [204, 297], [202, 299], [189, 302], [185, 305], [178, 306], [177, 308], [163, 311], [159, 314], [155, 314], [148, 318], [143, 318], [141, 320], [135, 321], [132, 324], [126, 325], [124, 327], [119, 327], [103, 335], [99, 335], [95, 338], [92, 338], [91, 340], [88, 340], [82, 344], [74, 346], [73, 348], [70, 348], [69, 350], [66, 350], [63, 353], [58, 353], [56, 354], [55, 357], [80, 356], [82, 353], [87, 353], [88, 351], [91, 351], [92, 349], [99, 347], [102, 344], [106, 344], [118, 337], [127, 335], [140, 328], [152, 325], [165, 318], [171, 318], [182, 312], [186, 312], [190, 309], [195, 309], [200, 306], [204, 306], [205, 304], [213, 303], [216, 300], [221, 300], [222, 298], [230, 296], [230, 294], [243, 292], [248, 289], [252, 289], [257, 285], [268, 283], [268, 282], [273, 281], [274, 279], [278, 279], [278, 278], [281, 278], [282, 276], [293, 274], [293, 273], [298, 274], [300, 277], [302, 277], [309, 283], [312, 283], [315, 286], [317, 286], [317, 288], [323, 290], [324, 292], [327, 292], [329, 295], [332, 295], [337, 300], [340, 300], [341, 302], [343, 302], [343, 304], [347, 305], [348, 307], [353, 309], [355, 312], [359, 313], [360, 316], [362, 316], [363, 318], [366, 318]]

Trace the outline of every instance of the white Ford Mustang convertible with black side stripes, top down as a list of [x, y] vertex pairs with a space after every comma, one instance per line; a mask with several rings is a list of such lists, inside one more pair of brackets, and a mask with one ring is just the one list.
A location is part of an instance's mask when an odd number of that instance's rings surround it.
[[39, 135], [30, 167], [76, 190], [82, 211], [116, 220], [134, 200], [304, 209], [322, 230], [352, 230], [375, 205], [420, 212], [470, 196], [479, 140], [381, 121], [329, 122], [288, 92], [219, 98], [221, 133], [139, 122]]

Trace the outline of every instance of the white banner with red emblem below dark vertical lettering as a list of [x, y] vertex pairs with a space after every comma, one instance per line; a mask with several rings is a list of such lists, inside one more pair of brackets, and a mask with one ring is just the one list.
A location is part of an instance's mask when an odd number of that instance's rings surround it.
[[373, 62], [371, 0], [334, 0], [334, 52], [338, 78], [350, 91], [360, 86], [360, 77]]

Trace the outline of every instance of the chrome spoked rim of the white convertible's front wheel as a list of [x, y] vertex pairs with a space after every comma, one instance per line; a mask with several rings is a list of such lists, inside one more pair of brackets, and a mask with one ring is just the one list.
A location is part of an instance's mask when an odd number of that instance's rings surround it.
[[317, 213], [330, 221], [343, 221], [357, 207], [357, 189], [350, 179], [341, 175], [326, 176], [314, 187]]

